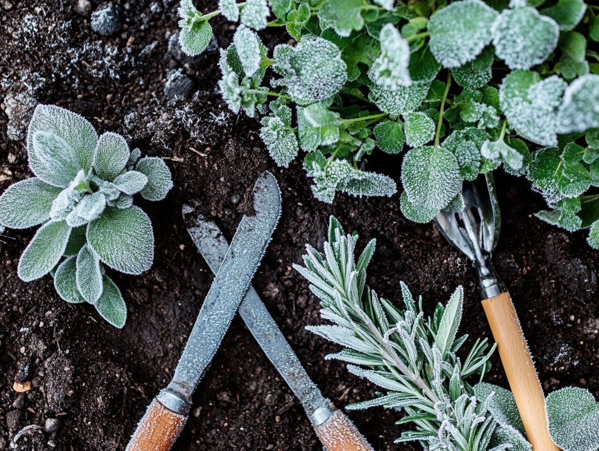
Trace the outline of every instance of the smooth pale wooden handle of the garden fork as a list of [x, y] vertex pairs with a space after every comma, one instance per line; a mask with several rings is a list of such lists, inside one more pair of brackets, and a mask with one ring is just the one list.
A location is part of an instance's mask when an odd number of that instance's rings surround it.
[[533, 451], [559, 451], [549, 437], [543, 389], [510, 293], [485, 299], [482, 304]]

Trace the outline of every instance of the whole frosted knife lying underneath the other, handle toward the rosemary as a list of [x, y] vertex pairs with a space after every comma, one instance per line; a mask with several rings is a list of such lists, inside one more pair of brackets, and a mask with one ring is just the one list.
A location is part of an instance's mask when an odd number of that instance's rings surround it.
[[[229, 245], [218, 226], [196, 218], [193, 209], [183, 207], [187, 232], [213, 273], [219, 268]], [[239, 307], [241, 318], [277, 368], [291, 391], [304, 406], [314, 431], [328, 451], [373, 451], [351, 420], [320, 393], [310, 380], [294, 350], [274, 321], [258, 293], [250, 285]]]

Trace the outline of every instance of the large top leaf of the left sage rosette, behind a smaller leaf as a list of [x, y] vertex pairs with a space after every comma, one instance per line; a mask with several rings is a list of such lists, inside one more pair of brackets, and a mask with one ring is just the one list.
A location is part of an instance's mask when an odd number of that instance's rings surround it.
[[41, 180], [54, 184], [47, 179], [47, 176], [51, 175], [48, 169], [35, 155], [33, 139], [38, 131], [56, 134], [65, 140], [75, 150], [81, 168], [89, 171], [98, 134], [87, 119], [55, 105], [38, 105], [35, 108], [27, 132], [29, 167]]

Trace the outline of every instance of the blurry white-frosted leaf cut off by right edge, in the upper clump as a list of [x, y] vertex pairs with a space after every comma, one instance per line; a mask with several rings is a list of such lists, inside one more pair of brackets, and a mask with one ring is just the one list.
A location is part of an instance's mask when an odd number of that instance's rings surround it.
[[564, 91], [557, 117], [558, 133], [599, 127], [599, 75], [576, 78]]

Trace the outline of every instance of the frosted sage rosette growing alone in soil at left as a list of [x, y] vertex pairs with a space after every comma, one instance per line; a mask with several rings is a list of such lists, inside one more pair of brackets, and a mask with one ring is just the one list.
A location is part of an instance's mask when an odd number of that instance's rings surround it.
[[112, 325], [125, 325], [120, 290], [104, 265], [126, 274], [152, 266], [152, 223], [133, 196], [164, 199], [173, 187], [161, 158], [141, 158], [112, 132], [98, 137], [84, 117], [38, 105], [27, 137], [35, 177], [18, 181], [0, 196], [0, 225], [41, 225], [20, 258], [25, 282], [51, 273], [67, 302], [89, 302]]

